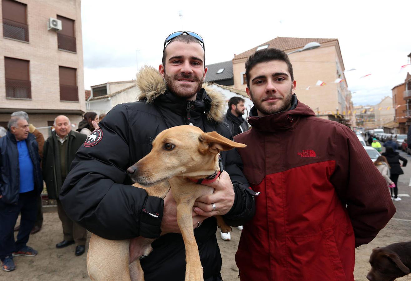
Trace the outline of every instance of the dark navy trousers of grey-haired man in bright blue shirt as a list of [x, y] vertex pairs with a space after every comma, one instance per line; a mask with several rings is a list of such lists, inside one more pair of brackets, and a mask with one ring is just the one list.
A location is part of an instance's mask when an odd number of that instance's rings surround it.
[[[21, 213], [20, 230], [14, 241], [14, 226]], [[20, 193], [18, 203], [5, 204], [0, 199], [0, 259], [10, 256], [26, 246], [37, 214], [37, 196], [35, 191]]]

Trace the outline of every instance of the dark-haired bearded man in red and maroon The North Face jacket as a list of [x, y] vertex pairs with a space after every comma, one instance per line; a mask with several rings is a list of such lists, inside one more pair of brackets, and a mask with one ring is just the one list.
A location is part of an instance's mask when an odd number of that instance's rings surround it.
[[235, 140], [261, 194], [236, 253], [241, 280], [354, 280], [355, 247], [395, 213], [384, 178], [348, 127], [298, 101], [283, 51], [257, 51], [245, 68], [252, 129]]

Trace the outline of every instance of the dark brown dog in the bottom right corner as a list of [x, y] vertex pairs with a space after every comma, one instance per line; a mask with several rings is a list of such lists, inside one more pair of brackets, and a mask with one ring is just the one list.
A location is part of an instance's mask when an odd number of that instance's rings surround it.
[[371, 270], [367, 279], [371, 281], [391, 281], [410, 273], [411, 242], [390, 244], [372, 249], [369, 257]]

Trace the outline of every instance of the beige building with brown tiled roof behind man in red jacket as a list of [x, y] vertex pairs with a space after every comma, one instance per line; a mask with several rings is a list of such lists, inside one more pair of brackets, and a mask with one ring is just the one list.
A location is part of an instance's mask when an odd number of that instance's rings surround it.
[[[292, 53], [294, 79], [298, 99], [311, 107], [319, 117], [353, 126], [353, 104], [344, 76], [344, 62], [338, 39], [276, 37], [233, 58], [234, 88], [244, 90], [245, 62], [259, 48], [279, 48], [286, 53], [295, 51], [309, 42], [318, 42], [319, 48]], [[336, 79], [341, 79], [335, 83]], [[316, 85], [318, 81], [323, 85]]]

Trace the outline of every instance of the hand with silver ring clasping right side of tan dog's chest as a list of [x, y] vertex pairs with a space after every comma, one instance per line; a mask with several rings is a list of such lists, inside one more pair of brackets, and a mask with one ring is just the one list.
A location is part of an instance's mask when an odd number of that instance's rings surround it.
[[[213, 183], [205, 184], [214, 188], [210, 195], [204, 195], [194, 203], [194, 212], [204, 217], [227, 214], [234, 204], [234, 187], [230, 176], [223, 171], [220, 177]], [[213, 211], [213, 205], [215, 210]]]

